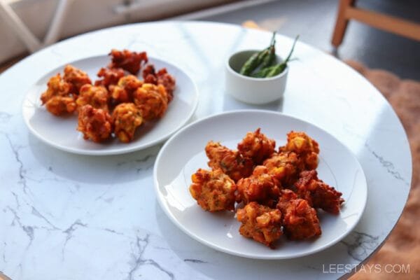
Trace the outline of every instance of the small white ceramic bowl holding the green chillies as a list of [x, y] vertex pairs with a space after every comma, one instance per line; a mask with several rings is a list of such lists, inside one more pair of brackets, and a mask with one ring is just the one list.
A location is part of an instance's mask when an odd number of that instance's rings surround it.
[[[259, 50], [242, 50], [231, 55], [226, 62], [225, 92], [249, 104], [265, 104], [283, 97], [286, 89], [288, 67], [271, 78], [252, 78], [241, 75], [239, 70], [246, 59]], [[276, 55], [276, 64], [283, 59]]]

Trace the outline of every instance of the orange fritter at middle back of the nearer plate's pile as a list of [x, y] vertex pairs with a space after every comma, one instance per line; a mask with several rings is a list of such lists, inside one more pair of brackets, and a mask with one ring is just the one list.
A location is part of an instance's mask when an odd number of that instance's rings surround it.
[[245, 158], [251, 158], [255, 165], [260, 165], [265, 159], [274, 153], [276, 141], [269, 139], [260, 132], [248, 132], [244, 139], [238, 144], [238, 150]]

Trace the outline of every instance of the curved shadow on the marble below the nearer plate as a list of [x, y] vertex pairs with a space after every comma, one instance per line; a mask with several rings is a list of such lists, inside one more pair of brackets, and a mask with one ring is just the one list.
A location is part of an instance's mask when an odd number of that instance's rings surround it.
[[[253, 260], [221, 253], [195, 241], [167, 218], [166, 214], [155, 204], [156, 221], [169, 247], [174, 253], [192, 269], [211, 279], [290, 279], [311, 277], [323, 274], [323, 267], [330, 263], [346, 263], [337, 255], [343, 248], [337, 244], [316, 255], [295, 258], [291, 260]], [[200, 221], [197, 221], [200, 223]], [[348, 259], [346, 259], [348, 261]], [[340, 262], [341, 261], [341, 262]], [[336, 279], [337, 274], [325, 274], [325, 279]]]

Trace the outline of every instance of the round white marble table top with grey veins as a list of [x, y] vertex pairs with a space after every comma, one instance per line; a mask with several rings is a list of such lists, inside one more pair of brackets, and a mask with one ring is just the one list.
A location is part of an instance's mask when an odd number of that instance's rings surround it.
[[[363, 76], [297, 43], [281, 102], [251, 106], [225, 94], [225, 59], [260, 48], [265, 31], [211, 22], [113, 27], [62, 41], [0, 76], [0, 271], [17, 279], [337, 279], [386, 240], [407, 200], [411, 155], [400, 120]], [[293, 39], [277, 36], [280, 55]], [[208, 248], [164, 214], [153, 189], [161, 145], [126, 155], [73, 155], [29, 133], [22, 99], [44, 73], [111, 48], [146, 50], [181, 66], [200, 90], [194, 119], [236, 109], [282, 111], [330, 132], [363, 167], [360, 223], [335, 246], [291, 260], [251, 260]], [[328, 267], [346, 265], [331, 271]]]

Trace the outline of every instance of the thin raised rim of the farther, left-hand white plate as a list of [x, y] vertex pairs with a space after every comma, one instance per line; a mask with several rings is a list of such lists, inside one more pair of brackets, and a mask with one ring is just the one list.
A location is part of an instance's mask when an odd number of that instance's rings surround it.
[[190, 80], [190, 82], [192, 83], [193, 88], [194, 88], [194, 93], [193, 93], [194, 94], [194, 102], [192, 104], [193, 106], [191, 106], [192, 109], [188, 113], [188, 116], [187, 116], [186, 120], [184, 122], [181, 122], [179, 125], [177, 125], [176, 128], [174, 130], [172, 130], [172, 132], [169, 132], [167, 134], [164, 134], [162, 137], [160, 137], [160, 138], [158, 138], [158, 139], [156, 139], [154, 141], [151, 141], [148, 144], [144, 144], [142, 146], [134, 146], [134, 147], [131, 147], [131, 148], [111, 150], [111, 151], [106, 151], [106, 150], [82, 150], [82, 149], [78, 149], [78, 148], [69, 148], [69, 147], [66, 147], [66, 146], [62, 146], [62, 145], [56, 144], [54, 141], [50, 141], [48, 139], [45, 139], [45, 137], [42, 137], [41, 134], [39, 134], [34, 129], [34, 127], [32, 127], [29, 124], [29, 119], [23, 113], [25, 111], [25, 104], [26, 104], [26, 102], [28, 100], [29, 92], [34, 87], [34, 85], [36, 85], [36, 83], [38, 83], [38, 81], [41, 80], [42, 78], [44, 78], [48, 73], [50, 73], [52, 71], [55, 71], [56, 69], [61, 69], [61, 68], [64, 69], [64, 66], [66, 66], [66, 64], [74, 64], [74, 63], [77, 63], [77, 62], [80, 62], [80, 61], [83, 61], [83, 60], [86, 60], [86, 59], [97, 59], [99, 57], [106, 57], [106, 56], [108, 56], [108, 54], [106, 54], [106, 55], [105, 54], [102, 54], [102, 55], [91, 55], [91, 56], [83, 57], [83, 58], [80, 58], [80, 59], [72, 60], [72, 61], [69, 61], [69, 62], [65, 62], [65, 63], [60, 64], [59, 66], [57, 66], [57, 67], [55, 67], [55, 68], [53, 68], [53, 69], [51, 69], [49, 71], [45, 71], [45, 73], [41, 74], [41, 76], [39, 76], [36, 79], [36, 82], [33, 83], [29, 87], [29, 89], [27, 90], [27, 92], [25, 94], [25, 97], [23, 97], [23, 99], [22, 99], [22, 104], [20, 106], [20, 108], [21, 108], [21, 116], [22, 116], [22, 118], [23, 118], [23, 120], [25, 122], [25, 125], [27, 126], [27, 128], [31, 132], [31, 134], [33, 134], [38, 140], [42, 141], [44, 144], [48, 144], [48, 146], [52, 146], [54, 148], [57, 148], [60, 151], [64, 151], [64, 152], [67, 152], [67, 153], [73, 153], [73, 154], [76, 154], [76, 155], [94, 155], [94, 156], [124, 155], [126, 153], [132, 153], [132, 152], [135, 152], [135, 151], [141, 151], [141, 150], [144, 150], [146, 148], [150, 148], [152, 146], [158, 145], [158, 144], [162, 143], [163, 141], [166, 141], [167, 139], [169, 139], [170, 137], [172, 137], [172, 135], [174, 135], [176, 132], [178, 132], [184, 126], [186, 126], [186, 124], [188, 124], [188, 122], [193, 118], [193, 115], [194, 115], [195, 111], [197, 111], [197, 106], [198, 106], [199, 97], [200, 97], [200, 92], [198, 90], [197, 83], [195, 83], [195, 80], [190, 75], [188, 75], [188, 73], [182, 67], [176, 66], [172, 62], [169, 62], [169, 61], [164, 60], [164, 59], [160, 59], [160, 58], [155, 57], [155, 56], [152, 55], [152, 56], [148, 56], [148, 59], [152, 59], [152, 60], [155, 60], [155, 61], [158, 61], [158, 62], [164, 62], [165, 64], [169, 64], [170, 66], [172, 66], [172, 67], [174, 67], [176, 69], [179, 69], [179, 71], [181, 71], [182, 73], [184, 73], [184, 75], [186, 75], [186, 77], [188, 77], [188, 79]]

